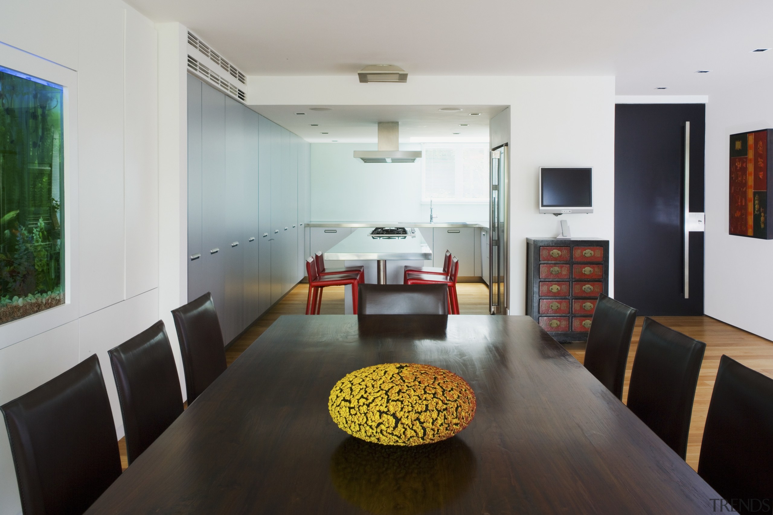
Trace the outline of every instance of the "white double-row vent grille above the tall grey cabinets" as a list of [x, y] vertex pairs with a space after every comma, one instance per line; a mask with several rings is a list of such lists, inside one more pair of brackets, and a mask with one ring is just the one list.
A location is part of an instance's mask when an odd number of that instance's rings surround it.
[[[212, 83], [230, 97], [247, 102], [247, 93], [240, 87], [247, 85], [247, 76], [192, 32], [188, 32], [188, 69], [193, 75]], [[222, 71], [221, 71], [222, 70]], [[223, 73], [225, 72], [225, 73]]]

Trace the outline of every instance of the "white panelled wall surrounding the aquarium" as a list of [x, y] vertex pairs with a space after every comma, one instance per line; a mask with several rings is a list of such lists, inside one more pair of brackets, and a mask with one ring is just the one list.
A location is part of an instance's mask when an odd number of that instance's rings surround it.
[[[0, 403], [96, 352], [120, 437], [106, 351], [158, 320], [156, 31], [118, 0], [6, 3], [0, 42], [77, 73], [77, 147], [70, 149], [77, 157], [77, 196], [65, 200], [74, 199], [79, 213], [80, 301], [72, 320], [2, 342]], [[32, 318], [43, 327], [57, 309]], [[0, 515], [15, 513], [21, 513], [15, 471], [0, 431]]]

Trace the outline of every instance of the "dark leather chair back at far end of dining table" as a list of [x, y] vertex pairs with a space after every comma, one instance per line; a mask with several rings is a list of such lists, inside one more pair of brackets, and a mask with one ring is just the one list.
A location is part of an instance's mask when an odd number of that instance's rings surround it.
[[360, 284], [357, 313], [363, 315], [447, 315], [445, 284]]

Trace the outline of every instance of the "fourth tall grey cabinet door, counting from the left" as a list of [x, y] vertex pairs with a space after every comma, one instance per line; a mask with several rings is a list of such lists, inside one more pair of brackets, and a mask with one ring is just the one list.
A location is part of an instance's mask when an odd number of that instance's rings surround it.
[[261, 269], [260, 269], [260, 149], [259, 116], [248, 107], [242, 106], [244, 116], [244, 325], [261, 315]]

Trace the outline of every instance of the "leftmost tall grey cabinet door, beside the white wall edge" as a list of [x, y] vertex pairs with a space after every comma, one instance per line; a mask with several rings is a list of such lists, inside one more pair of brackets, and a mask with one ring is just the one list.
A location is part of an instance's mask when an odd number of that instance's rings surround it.
[[202, 258], [201, 88], [188, 76], [188, 300], [207, 292]]

